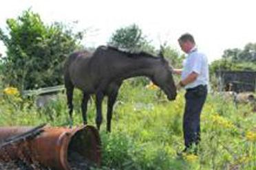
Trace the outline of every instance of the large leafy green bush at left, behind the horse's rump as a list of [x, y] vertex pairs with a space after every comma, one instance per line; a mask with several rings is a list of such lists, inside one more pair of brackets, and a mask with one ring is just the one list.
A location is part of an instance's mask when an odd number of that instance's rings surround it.
[[63, 61], [78, 47], [81, 32], [74, 34], [61, 23], [45, 25], [31, 10], [6, 23], [8, 34], [0, 29], [0, 40], [7, 47], [1, 66], [3, 83], [20, 89], [63, 84]]

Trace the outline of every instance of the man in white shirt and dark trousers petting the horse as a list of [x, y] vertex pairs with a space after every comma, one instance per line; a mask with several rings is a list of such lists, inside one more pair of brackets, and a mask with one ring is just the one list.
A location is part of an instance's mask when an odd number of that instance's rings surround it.
[[177, 89], [186, 89], [183, 117], [183, 133], [185, 149], [182, 152], [192, 151], [196, 154], [200, 142], [200, 114], [207, 95], [209, 84], [209, 68], [206, 56], [195, 47], [195, 40], [191, 34], [183, 34], [178, 39], [182, 51], [187, 56], [183, 62], [183, 69], [173, 69], [181, 75]]

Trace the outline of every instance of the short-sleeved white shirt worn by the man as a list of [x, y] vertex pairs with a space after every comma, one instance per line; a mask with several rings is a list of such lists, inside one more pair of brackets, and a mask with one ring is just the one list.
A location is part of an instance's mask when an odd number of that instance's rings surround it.
[[194, 82], [186, 84], [184, 88], [194, 88], [200, 84], [209, 84], [209, 66], [208, 60], [203, 53], [198, 52], [198, 49], [193, 48], [188, 56], [183, 61], [182, 77], [184, 80], [190, 73], [198, 73], [198, 77]]

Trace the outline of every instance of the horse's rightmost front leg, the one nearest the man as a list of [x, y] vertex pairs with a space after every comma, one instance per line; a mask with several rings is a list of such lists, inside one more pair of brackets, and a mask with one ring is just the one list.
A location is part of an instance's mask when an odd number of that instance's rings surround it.
[[116, 102], [117, 95], [118, 95], [118, 91], [111, 93], [107, 101], [107, 132], [111, 132], [112, 112], [113, 112], [113, 106]]

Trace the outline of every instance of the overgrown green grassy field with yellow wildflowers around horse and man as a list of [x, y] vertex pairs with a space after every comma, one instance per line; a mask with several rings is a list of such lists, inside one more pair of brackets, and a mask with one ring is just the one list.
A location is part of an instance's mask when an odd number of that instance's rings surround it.
[[[10, 91], [12, 92], [12, 91]], [[202, 142], [198, 156], [178, 157], [183, 149], [182, 115], [184, 91], [167, 101], [158, 88], [132, 86], [125, 82], [114, 108], [111, 134], [106, 132], [106, 114], [100, 130], [103, 167], [100, 169], [256, 169], [256, 113], [249, 105], [235, 108], [231, 99], [209, 94], [202, 111]], [[82, 124], [81, 93], [75, 91], [74, 123]], [[103, 110], [106, 110], [105, 104]], [[95, 125], [92, 99], [89, 124]], [[46, 108], [19, 94], [0, 97], [0, 125], [68, 125], [64, 94]]]

